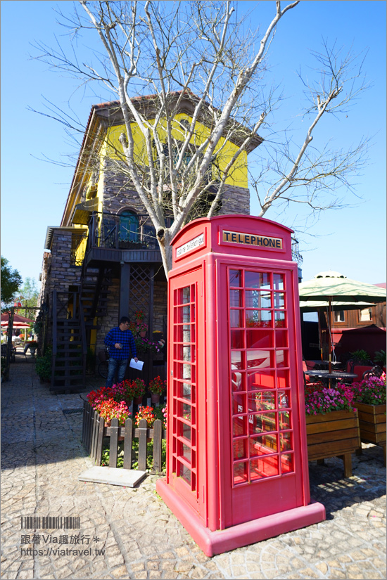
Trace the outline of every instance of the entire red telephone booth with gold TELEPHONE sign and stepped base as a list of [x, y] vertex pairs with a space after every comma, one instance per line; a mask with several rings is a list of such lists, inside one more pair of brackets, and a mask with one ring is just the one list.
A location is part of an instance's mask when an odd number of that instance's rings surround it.
[[203, 218], [172, 249], [158, 493], [206, 555], [321, 522], [324, 506], [310, 503], [291, 230]]

